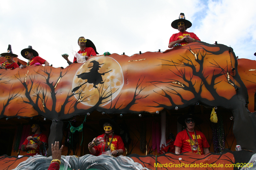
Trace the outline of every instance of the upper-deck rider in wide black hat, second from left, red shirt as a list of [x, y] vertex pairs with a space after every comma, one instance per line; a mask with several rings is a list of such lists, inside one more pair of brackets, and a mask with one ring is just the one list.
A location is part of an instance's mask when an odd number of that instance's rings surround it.
[[46, 60], [38, 56], [38, 53], [36, 52], [36, 50], [32, 49], [32, 46], [28, 46], [28, 48], [24, 48], [23, 50], [21, 50], [20, 53], [24, 58], [28, 59], [27, 66], [31, 66], [35, 64], [36, 65], [44, 64], [44, 66], [49, 65], [49, 63]]

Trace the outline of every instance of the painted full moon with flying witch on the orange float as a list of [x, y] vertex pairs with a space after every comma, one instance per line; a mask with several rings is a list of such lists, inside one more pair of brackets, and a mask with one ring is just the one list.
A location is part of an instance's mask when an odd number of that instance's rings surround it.
[[78, 68], [72, 88], [80, 87], [77, 91], [82, 94], [76, 94], [75, 97], [83, 100], [82, 103], [87, 106], [94, 106], [100, 98], [109, 96], [100, 105], [105, 106], [116, 98], [123, 85], [124, 76], [120, 64], [113, 58], [100, 56], [86, 61]]

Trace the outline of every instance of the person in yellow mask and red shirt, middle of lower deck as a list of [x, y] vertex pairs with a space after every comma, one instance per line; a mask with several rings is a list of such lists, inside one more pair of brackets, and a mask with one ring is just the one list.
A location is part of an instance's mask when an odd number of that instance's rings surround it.
[[102, 118], [100, 119], [100, 126], [105, 130], [105, 134], [94, 138], [88, 144], [90, 153], [99, 156], [102, 152], [109, 151], [109, 154], [113, 156], [122, 155], [125, 148], [122, 138], [116, 135], [120, 131], [118, 124], [111, 119]]

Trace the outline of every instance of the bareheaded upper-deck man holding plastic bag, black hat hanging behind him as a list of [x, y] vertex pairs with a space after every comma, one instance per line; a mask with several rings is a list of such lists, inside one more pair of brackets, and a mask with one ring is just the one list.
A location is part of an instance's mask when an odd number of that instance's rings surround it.
[[[79, 37], [77, 43], [80, 47], [80, 50], [77, 53], [84, 56], [85, 60], [87, 60], [90, 56], [99, 54], [91, 40], [85, 39], [84, 37]], [[62, 57], [67, 60], [69, 65], [72, 64], [72, 62], [68, 60], [68, 54], [62, 54]], [[73, 63], [77, 63], [77, 54], [74, 56]]]

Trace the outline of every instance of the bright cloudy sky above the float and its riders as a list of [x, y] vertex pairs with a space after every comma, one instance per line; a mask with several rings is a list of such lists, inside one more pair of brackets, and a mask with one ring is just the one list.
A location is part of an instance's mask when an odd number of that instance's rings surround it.
[[54, 67], [66, 67], [61, 54], [79, 50], [84, 36], [104, 52], [133, 55], [165, 51], [180, 12], [201, 41], [218, 41], [239, 58], [255, 60], [255, 0], [0, 0], [0, 53], [14, 54], [31, 45]]

